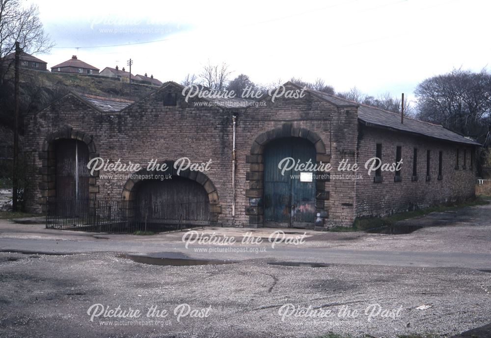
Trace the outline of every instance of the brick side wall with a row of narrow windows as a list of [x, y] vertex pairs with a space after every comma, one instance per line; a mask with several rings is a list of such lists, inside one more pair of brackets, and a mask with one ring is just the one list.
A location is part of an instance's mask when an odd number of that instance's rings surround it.
[[[394, 182], [393, 172], [382, 172], [382, 182], [374, 182], [375, 174], [367, 176], [364, 163], [376, 156], [376, 144], [382, 144], [382, 162], [395, 162], [396, 147], [402, 147], [401, 182]], [[417, 154], [417, 181], [412, 181], [413, 153]], [[459, 169], [455, 169], [456, 149], [460, 149]], [[463, 169], [466, 149], [467, 166]], [[427, 150], [430, 150], [430, 180], [426, 180]], [[442, 152], [442, 177], [438, 180], [438, 153]], [[474, 196], [475, 169], [470, 168], [469, 145], [456, 145], [419, 136], [360, 126], [358, 163], [363, 178], [356, 184], [356, 215], [381, 216], [413, 208]]]

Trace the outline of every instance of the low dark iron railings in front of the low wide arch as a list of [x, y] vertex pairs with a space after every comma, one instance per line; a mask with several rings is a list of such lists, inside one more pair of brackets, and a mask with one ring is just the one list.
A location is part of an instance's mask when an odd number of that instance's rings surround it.
[[210, 225], [208, 202], [126, 201], [122, 196], [49, 198], [46, 228], [104, 233], [175, 231]]

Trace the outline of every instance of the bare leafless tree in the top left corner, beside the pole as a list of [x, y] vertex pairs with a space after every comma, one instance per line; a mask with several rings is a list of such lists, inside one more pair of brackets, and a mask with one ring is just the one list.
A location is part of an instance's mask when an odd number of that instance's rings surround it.
[[0, 83], [13, 67], [13, 58], [5, 56], [15, 51], [16, 41], [27, 53], [48, 52], [53, 47], [36, 5], [24, 8], [20, 0], [0, 0]]

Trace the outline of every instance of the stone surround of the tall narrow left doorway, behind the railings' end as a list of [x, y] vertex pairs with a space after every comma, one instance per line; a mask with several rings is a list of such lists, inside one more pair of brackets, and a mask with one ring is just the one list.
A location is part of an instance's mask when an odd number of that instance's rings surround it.
[[[60, 139], [72, 139], [79, 140], [85, 143], [89, 152], [89, 160], [98, 157], [96, 152], [96, 146], [92, 135], [88, 135], [85, 132], [74, 130], [73, 128], [65, 128], [62, 130], [54, 131], [46, 136], [41, 151], [38, 156], [41, 160], [41, 182], [39, 188], [41, 190], [41, 208], [43, 212], [46, 210], [48, 197], [56, 196], [55, 186], [55, 147], [54, 142]], [[99, 171], [95, 171], [94, 175], [89, 178], [89, 196], [95, 195], [99, 192], [96, 179], [99, 177]]]

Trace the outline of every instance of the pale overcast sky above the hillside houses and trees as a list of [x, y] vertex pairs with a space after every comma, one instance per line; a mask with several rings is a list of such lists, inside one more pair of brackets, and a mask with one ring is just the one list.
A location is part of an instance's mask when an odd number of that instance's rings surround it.
[[489, 66], [486, 0], [25, 0], [55, 42], [99, 69], [181, 82], [208, 63], [261, 84], [322, 78], [336, 91], [406, 93], [453, 68]]

